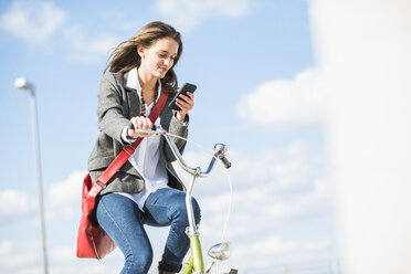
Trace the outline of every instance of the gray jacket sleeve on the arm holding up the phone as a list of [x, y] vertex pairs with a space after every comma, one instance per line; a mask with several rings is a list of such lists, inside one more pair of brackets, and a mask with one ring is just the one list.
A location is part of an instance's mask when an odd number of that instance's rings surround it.
[[[171, 120], [170, 120], [170, 127], [169, 127], [168, 131], [170, 134], [178, 135], [180, 137], [187, 138], [187, 136], [188, 136], [188, 124], [189, 124], [188, 114], [187, 114], [186, 117], [187, 117], [186, 123], [181, 123], [180, 120], [177, 119], [176, 110], [173, 110], [172, 112], [172, 117], [171, 117]], [[178, 147], [180, 154], [182, 154], [185, 151], [185, 147], [186, 147], [187, 141], [183, 140], [183, 139], [180, 139], [180, 138], [176, 138], [176, 137], [173, 137], [173, 141], [176, 143], [176, 146]], [[165, 146], [166, 146], [165, 147], [166, 160], [168, 162], [175, 161], [176, 157], [172, 154], [172, 150], [171, 150], [170, 146], [167, 144], [167, 141], [165, 141]]]

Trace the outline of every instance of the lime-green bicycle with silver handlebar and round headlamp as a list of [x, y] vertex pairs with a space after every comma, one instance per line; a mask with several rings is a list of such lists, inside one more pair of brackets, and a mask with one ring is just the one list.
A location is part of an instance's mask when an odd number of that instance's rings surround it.
[[[217, 159], [221, 160], [225, 168], [231, 167], [231, 162], [225, 157], [225, 152], [228, 150], [226, 146], [223, 145], [223, 144], [215, 144], [214, 155], [211, 158], [211, 161], [209, 164], [209, 167], [207, 168], [207, 171], [201, 171], [200, 167], [197, 167], [197, 168], [189, 167], [185, 162], [185, 160], [182, 159], [182, 156], [181, 156], [179, 149], [177, 148], [177, 145], [172, 140], [172, 137], [176, 137], [176, 138], [181, 138], [181, 137], [167, 133], [167, 130], [164, 129], [161, 126], [155, 126], [152, 129], [137, 129], [136, 131], [151, 133], [154, 135], [164, 136], [166, 138], [166, 141], [170, 146], [171, 151], [177, 159], [177, 162], [180, 165], [180, 167], [186, 172], [191, 175], [190, 185], [189, 185], [189, 187], [187, 189], [187, 192], [186, 192], [186, 207], [187, 207], [187, 213], [188, 213], [188, 218], [189, 218], [189, 226], [186, 229], [186, 234], [190, 239], [191, 254], [190, 254], [189, 261], [187, 262], [187, 264], [183, 267], [181, 273], [182, 274], [192, 274], [192, 273], [194, 273], [194, 274], [208, 274], [208, 273], [210, 273], [212, 266], [215, 264], [215, 261], [223, 261], [223, 260], [228, 260], [230, 257], [231, 244], [228, 243], [228, 242], [221, 242], [219, 244], [213, 245], [209, 250], [208, 254], [214, 261], [212, 261], [208, 265], [208, 267], [205, 267], [205, 270], [204, 270], [204, 261], [203, 261], [202, 250], [201, 250], [201, 244], [200, 244], [200, 233], [198, 232], [198, 229], [197, 229], [197, 225], [196, 225], [196, 222], [194, 222], [194, 213], [193, 213], [193, 210], [192, 210], [192, 203], [191, 203], [192, 199], [191, 198], [192, 198], [192, 191], [193, 191], [194, 182], [196, 182], [197, 178], [207, 177], [211, 172], [211, 170], [213, 169]], [[230, 272], [229, 272], [229, 274], [236, 274], [236, 273], [238, 273], [238, 271], [233, 270], [233, 268], [230, 270]]]

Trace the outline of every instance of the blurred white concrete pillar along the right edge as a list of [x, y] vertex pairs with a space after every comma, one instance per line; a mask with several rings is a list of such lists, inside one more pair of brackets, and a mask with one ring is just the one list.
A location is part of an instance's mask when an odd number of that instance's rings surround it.
[[411, 273], [411, 0], [310, 0], [344, 274]]

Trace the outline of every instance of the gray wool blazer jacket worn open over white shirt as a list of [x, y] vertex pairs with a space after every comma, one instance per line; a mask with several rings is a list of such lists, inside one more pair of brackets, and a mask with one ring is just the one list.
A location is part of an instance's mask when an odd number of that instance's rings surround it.
[[[88, 171], [93, 181], [96, 181], [103, 171], [109, 166], [115, 157], [128, 145], [122, 139], [123, 129], [129, 124], [131, 117], [140, 115], [140, 99], [136, 89], [128, 87], [126, 74], [104, 74], [98, 94], [98, 127], [99, 136], [88, 158]], [[180, 123], [175, 115], [176, 110], [168, 108], [170, 95], [165, 108], [160, 114], [161, 127], [169, 133], [187, 137], [188, 123]], [[187, 116], [188, 118], [188, 116]], [[186, 141], [175, 138], [180, 152], [183, 151]], [[168, 173], [169, 187], [183, 190], [183, 185], [178, 178], [171, 161], [176, 160], [165, 138], [160, 140], [160, 160], [165, 162]], [[129, 161], [117, 171], [108, 181], [101, 194], [108, 192], [138, 193], [145, 188], [140, 173]]]

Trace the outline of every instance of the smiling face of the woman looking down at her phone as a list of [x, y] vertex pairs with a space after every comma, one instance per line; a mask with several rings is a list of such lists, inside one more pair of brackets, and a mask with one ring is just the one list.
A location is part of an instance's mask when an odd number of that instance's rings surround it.
[[157, 78], [165, 77], [175, 63], [177, 51], [178, 43], [172, 38], [159, 39], [149, 48], [139, 46], [140, 73], [148, 73]]

